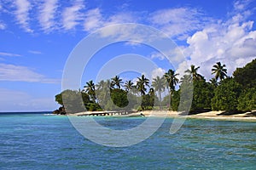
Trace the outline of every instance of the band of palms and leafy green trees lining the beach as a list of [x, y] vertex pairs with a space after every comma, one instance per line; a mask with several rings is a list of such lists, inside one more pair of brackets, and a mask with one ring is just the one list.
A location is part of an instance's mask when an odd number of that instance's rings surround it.
[[[197, 73], [199, 69], [199, 66], [191, 65], [180, 81], [178, 74], [170, 69], [162, 77], [155, 77], [151, 85], [144, 75], [137, 77], [137, 82], [130, 80], [124, 85], [119, 76], [96, 85], [89, 81], [82, 92], [65, 90], [55, 95], [55, 101], [61, 105], [55, 112], [73, 113], [84, 111], [84, 108], [86, 111], [143, 111], [154, 107], [192, 112], [256, 110], [256, 59], [237, 68], [234, 77], [228, 77], [225, 65], [217, 62], [212, 66], [215, 77], [209, 82]], [[163, 100], [162, 94], [166, 95]]]

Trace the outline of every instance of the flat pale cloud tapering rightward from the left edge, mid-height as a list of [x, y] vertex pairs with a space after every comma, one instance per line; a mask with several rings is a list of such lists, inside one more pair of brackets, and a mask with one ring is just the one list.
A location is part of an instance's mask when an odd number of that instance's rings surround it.
[[50, 79], [28, 67], [20, 65], [0, 64], [0, 81], [11, 82], [42, 82], [42, 83], [57, 83], [56, 79]]

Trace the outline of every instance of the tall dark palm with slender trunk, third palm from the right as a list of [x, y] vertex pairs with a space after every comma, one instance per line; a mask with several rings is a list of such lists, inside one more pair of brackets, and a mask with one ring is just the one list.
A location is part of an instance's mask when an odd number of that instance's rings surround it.
[[172, 92], [175, 90], [175, 86], [177, 85], [177, 82], [178, 82], [177, 75], [178, 74], [175, 74], [175, 71], [172, 71], [172, 69], [169, 69], [169, 71], [167, 71], [164, 75], [164, 77], [166, 78], [166, 82], [167, 82], [169, 94], [170, 94], [169, 109], [171, 109]]

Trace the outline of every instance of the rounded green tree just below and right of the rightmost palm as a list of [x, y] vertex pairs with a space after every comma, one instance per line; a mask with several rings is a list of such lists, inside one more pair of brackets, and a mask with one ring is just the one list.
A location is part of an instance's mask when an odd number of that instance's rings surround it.
[[238, 97], [241, 94], [241, 85], [234, 78], [226, 78], [214, 89], [212, 110], [237, 111]]

